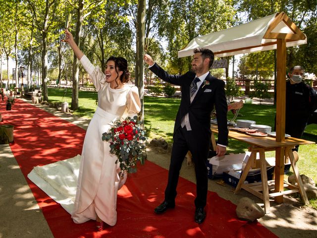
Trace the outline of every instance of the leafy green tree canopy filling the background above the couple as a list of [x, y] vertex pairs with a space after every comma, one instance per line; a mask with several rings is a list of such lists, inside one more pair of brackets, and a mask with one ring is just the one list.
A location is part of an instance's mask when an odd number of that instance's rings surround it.
[[[140, 76], [138, 71], [135, 75], [140, 37], [137, 29], [142, 22], [142, 19], [137, 21], [140, 2], [0, 0], [1, 63], [9, 58], [14, 60], [15, 79], [19, 78], [18, 68], [23, 65], [28, 71], [28, 85], [39, 82], [45, 100], [49, 97], [46, 90], [49, 80], [71, 81], [72, 107], [76, 109], [78, 79], [84, 77], [85, 71], [70, 48], [61, 42], [67, 14], [72, 13], [70, 30], [76, 43], [94, 64], [104, 68], [109, 56], [122, 56], [128, 60], [133, 78], [137, 78]], [[317, 74], [317, 0], [147, 0], [145, 10], [147, 53], [171, 73], [183, 73], [190, 68], [190, 57], [177, 58], [177, 51], [194, 37], [284, 11], [308, 39], [306, 45], [287, 49], [287, 66], [299, 64], [307, 72]], [[12, 69], [8, 67], [1, 67], [0, 79], [4, 70], [5, 78], [11, 83]], [[273, 51], [241, 58], [240, 76], [258, 75], [261, 79], [271, 77], [273, 72]]]

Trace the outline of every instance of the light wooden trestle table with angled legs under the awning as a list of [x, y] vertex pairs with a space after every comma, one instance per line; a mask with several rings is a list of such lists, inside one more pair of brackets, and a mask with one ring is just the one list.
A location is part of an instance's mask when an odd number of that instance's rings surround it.
[[[215, 148], [215, 139], [214, 133], [218, 133], [217, 125], [211, 124], [211, 143], [213, 148]], [[298, 138], [288, 137], [285, 138], [284, 142], [276, 142], [274, 137], [266, 136], [266, 137], [256, 137], [251, 136], [243, 132], [237, 132], [229, 130], [229, 138], [233, 138], [242, 142], [245, 142], [250, 145], [249, 151], [251, 151], [249, 160], [246, 164], [246, 167], [240, 177], [239, 183], [235, 189], [235, 193], [237, 193], [241, 188], [249, 191], [255, 196], [261, 198], [264, 201], [264, 211], [265, 213], [269, 213], [269, 198], [274, 197], [275, 201], [278, 203], [282, 203], [283, 199], [276, 199], [277, 197], [282, 197], [284, 194], [290, 194], [295, 192], [300, 192], [302, 199], [305, 204], [308, 204], [308, 198], [306, 192], [304, 190], [303, 182], [300, 177], [298, 167], [295, 163], [294, 155], [292, 149], [295, 145], [306, 145], [306, 144], [315, 144], [313, 141], [302, 140]], [[283, 151], [283, 155], [285, 157], [281, 158], [281, 160], [275, 159], [275, 170], [274, 170], [274, 179], [267, 181], [266, 174], [266, 161], [265, 161], [265, 151]], [[243, 182], [247, 178], [247, 175], [252, 167], [256, 166], [256, 155], [260, 154], [260, 169], [261, 169], [261, 177], [262, 182], [249, 183], [244, 184]], [[276, 156], [277, 157], [277, 156]], [[290, 159], [291, 166], [293, 168], [296, 181], [298, 186], [294, 186], [290, 183], [284, 181], [284, 162], [287, 159]], [[289, 188], [290, 190], [284, 191], [284, 187]], [[269, 193], [268, 191], [274, 188], [273, 193]], [[262, 191], [262, 193], [261, 193]]]

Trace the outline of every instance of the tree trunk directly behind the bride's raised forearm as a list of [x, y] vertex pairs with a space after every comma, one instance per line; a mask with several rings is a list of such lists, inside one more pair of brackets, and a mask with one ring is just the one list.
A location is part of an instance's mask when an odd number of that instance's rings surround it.
[[[83, 25], [83, 14], [84, 14], [84, 1], [79, 0], [79, 7], [77, 10], [77, 22], [75, 32], [75, 43], [80, 48], [80, 35], [81, 28]], [[73, 61], [73, 90], [71, 96], [71, 109], [76, 110], [78, 108], [78, 77], [79, 77], [79, 60], [74, 54]]]

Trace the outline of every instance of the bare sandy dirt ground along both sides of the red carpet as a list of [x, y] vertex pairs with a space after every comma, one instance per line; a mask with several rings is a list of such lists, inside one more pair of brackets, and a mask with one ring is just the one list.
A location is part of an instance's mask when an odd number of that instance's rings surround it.
[[[37, 107], [53, 115], [68, 120], [87, 129], [89, 120], [63, 114], [43, 105]], [[167, 152], [148, 147], [148, 160], [168, 169], [170, 149]], [[194, 168], [182, 166], [180, 176], [195, 182]], [[162, 178], [166, 179], [167, 178]], [[209, 180], [209, 190], [220, 197], [237, 204], [242, 197], [249, 197], [263, 207], [263, 201], [245, 190], [234, 194], [234, 188], [228, 184], [220, 185], [218, 180]], [[280, 238], [317, 238], [317, 211], [303, 206], [299, 200], [284, 196], [284, 203], [270, 202], [270, 213], [259, 222]], [[9, 145], [0, 145], [0, 238], [50, 238], [50, 228], [39, 209], [37, 202], [12, 155]]]

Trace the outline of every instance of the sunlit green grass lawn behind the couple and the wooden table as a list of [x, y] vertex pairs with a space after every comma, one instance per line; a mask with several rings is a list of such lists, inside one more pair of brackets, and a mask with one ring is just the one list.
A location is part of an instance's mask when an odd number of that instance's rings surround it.
[[[49, 88], [50, 101], [66, 101], [71, 103], [71, 89]], [[96, 110], [96, 92], [79, 91], [79, 109], [74, 112], [80, 117], [91, 118]], [[147, 128], [151, 127], [150, 138], [163, 137], [168, 143], [172, 143], [175, 117], [180, 104], [179, 98], [144, 97], [144, 122]], [[254, 120], [257, 124], [274, 127], [275, 106], [245, 104], [239, 112], [237, 119]], [[228, 119], [233, 118], [231, 112]], [[306, 127], [303, 139], [317, 142], [317, 124]], [[248, 145], [240, 141], [229, 139], [228, 153], [243, 153]], [[266, 156], [273, 157], [274, 152], [266, 152]], [[299, 148], [300, 159], [298, 167], [301, 174], [314, 179], [317, 182], [317, 145], [302, 145]], [[311, 200], [311, 204], [317, 208], [317, 200]]]

